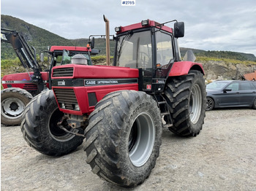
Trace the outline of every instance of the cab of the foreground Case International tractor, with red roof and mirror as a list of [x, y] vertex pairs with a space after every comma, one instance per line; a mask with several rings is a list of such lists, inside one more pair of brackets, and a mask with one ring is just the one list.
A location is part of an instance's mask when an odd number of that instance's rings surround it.
[[154, 20], [116, 27], [114, 66], [139, 69], [140, 90], [162, 91], [173, 63], [181, 61], [177, 39], [184, 36], [184, 23], [176, 21], [175, 28], [173, 34]]

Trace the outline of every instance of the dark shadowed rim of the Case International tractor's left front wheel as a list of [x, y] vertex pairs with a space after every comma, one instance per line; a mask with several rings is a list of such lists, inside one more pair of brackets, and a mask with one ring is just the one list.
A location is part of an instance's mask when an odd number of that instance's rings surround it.
[[[57, 123], [62, 120], [63, 116], [64, 116], [64, 113], [59, 111], [59, 108], [56, 108], [50, 115], [48, 128], [49, 128], [50, 135], [53, 137], [53, 139], [56, 139], [56, 141], [64, 142], [64, 141], [69, 141], [75, 135], [67, 133], [58, 127]], [[70, 130], [71, 132], [78, 133], [78, 129], [73, 129], [67, 124], [65, 125], [65, 128], [67, 128], [67, 130]]]

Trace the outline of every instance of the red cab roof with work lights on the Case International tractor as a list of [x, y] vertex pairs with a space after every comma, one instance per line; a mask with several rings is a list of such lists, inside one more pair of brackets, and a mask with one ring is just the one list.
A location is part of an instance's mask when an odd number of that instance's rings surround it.
[[135, 30], [138, 28], [148, 28], [148, 27], [157, 27], [161, 28], [164, 31], [173, 33], [173, 28], [170, 28], [168, 26], [164, 26], [164, 24], [157, 23], [154, 20], [142, 20], [140, 23], [135, 23], [129, 26], [118, 26], [115, 28], [116, 34], [121, 34], [126, 31]]

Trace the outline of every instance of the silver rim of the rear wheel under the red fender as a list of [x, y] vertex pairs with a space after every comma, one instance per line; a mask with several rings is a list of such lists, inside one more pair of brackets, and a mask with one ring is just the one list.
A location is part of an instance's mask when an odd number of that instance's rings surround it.
[[202, 94], [199, 85], [194, 85], [190, 94], [189, 117], [193, 124], [199, 120], [202, 109]]

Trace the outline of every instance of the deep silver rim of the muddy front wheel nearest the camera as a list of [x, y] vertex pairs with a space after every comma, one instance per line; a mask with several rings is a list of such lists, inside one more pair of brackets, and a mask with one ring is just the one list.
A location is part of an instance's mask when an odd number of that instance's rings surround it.
[[156, 136], [154, 122], [147, 112], [139, 114], [129, 133], [129, 159], [135, 166], [144, 165], [151, 155]]

